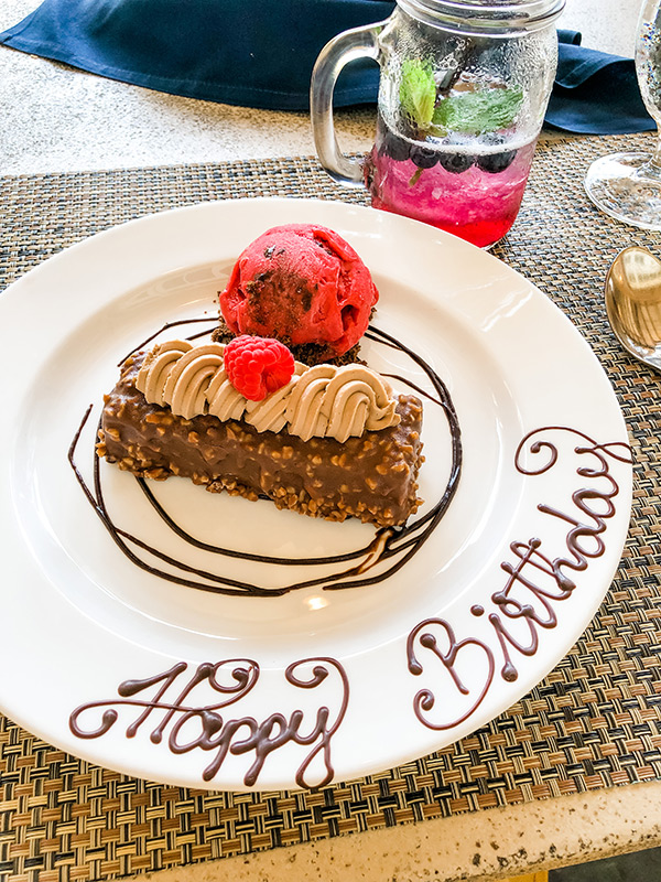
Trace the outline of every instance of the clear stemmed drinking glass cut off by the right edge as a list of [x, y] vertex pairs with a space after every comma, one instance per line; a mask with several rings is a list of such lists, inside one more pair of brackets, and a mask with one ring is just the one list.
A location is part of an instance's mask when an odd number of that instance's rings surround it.
[[[644, 0], [636, 73], [644, 106], [661, 122], [661, 0]], [[661, 135], [653, 153], [611, 153], [593, 162], [585, 192], [600, 211], [643, 229], [661, 229]]]

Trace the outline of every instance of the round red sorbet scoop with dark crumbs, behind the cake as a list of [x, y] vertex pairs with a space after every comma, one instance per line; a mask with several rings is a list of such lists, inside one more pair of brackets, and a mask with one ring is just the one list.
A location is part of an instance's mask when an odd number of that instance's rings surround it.
[[360, 340], [379, 293], [337, 233], [316, 224], [272, 227], [237, 260], [220, 311], [234, 334], [326, 346], [344, 355]]

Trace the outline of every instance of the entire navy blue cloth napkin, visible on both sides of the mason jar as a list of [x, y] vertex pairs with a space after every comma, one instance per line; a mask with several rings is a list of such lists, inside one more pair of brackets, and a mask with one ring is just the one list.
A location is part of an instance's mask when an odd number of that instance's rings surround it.
[[[393, 0], [44, 0], [0, 43], [172, 95], [307, 110], [322, 46], [393, 8]], [[559, 31], [559, 41], [549, 125], [590, 135], [655, 128], [630, 58], [584, 49], [571, 31]], [[373, 62], [348, 65], [335, 105], [375, 101], [378, 80]]]

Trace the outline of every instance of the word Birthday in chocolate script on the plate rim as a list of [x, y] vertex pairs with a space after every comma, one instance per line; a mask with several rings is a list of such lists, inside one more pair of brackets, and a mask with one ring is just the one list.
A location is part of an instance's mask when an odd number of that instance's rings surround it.
[[[586, 570], [606, 549], [604, 534], [616, 514], [615, 499], [620, 492], [613, 465], [630, 464], [630, 449], [620, 442], [599, 444], [575, 429], [549, 426], [529, 432], [519, 444], [514, 466], [520, 474], [537, 476], [553, 469], [560, 459], [557, 440], [550, 440], [555, 433], [560, 433], [559, 438], [568, 433], [579, 440], [573, 449], [579, 463], [575, 474], [588, 484], [572, 493], [567, 510], [546, 503], [538, 505], [538, 510], [552, 518], [554, 525], [568, 528], [563, 551], [549, 555], [546, 549], [542, 550], [542, 539], [537, 537], [510, 544], [511, 559], [500, 563], [506, 574], [503, 585], [490, 598], [494, 609], [486, 619], [486, 637], [485, 628], [479, 637], [457, 637], [451, 623], [440, 617], [425, 619], [409, 634], [409, 671], [414, 676], [424, 671], [420, 648], [426, 650], [424, 657], [434, 665], [434, 689], [421, 689], [413, 699], [418, 720], [430, 729], [452, 729], [475, 713], [496, 678], [498, 666], [505, 681], [518, 679], [512, 654], [535, 655], [543, 632], [557, 626], [557, 604], [577, 588], [574, 574]], [[524, 453], [535, 462], [534, 467], [523, 464]], [[485, 613], [481, 604], [470, 607], [476, 619]], [[472, 688], [465, 684], [468, 671], [474, 682]], [[449, 719], [444, 719], [443, 710], [448, 707], [455, 710]]]

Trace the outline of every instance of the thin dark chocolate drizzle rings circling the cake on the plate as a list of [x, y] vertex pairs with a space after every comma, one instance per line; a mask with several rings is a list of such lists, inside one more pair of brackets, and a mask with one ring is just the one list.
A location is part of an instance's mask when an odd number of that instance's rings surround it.
[[[167, 322], [159, 331], [151, 334], [145, 341], [136, 346], [128, 355], [132, 355], [140, 348], [155, 340], [161, 333], [172, 327], [183, 324], [191, 324], [197, 322], [207, 322], [216, 324], [212, 319], [188, 319], [178, 322]], [[189, 337], [189, 340], [204, 336], [206, 332], [198, 332]], [[93, 464], [93, 487], [88, 485], [80, 470], [76, 464], [76, 449], [83, 429], [91, 412], [93, 406], [87, 409], [76, 434], [71, 443], [68, 450], [68, 462], [76, 475], [76, 478], [85, 493], [88, 502], [93, 506], [97, 516], [101, 520], [105, 528], [108, 530], [110, 537], [118, 546], [118, 548], [131, 560], [137, 567], [147, 572], [158, 576], [169, 582], [185, 585], [188, 588], [196, 588], [202, 591], [210, 591], [218, 594], [232, 594], [241, 596], [281, 596], [291, 591], [297, 591], [305, 588], [321, 588], [322, 590], [340, 590], [348, 588], [365, 588], [373, 585], [388, 579], [390, 576], [400, 570], [412, 557], [415, 555], [423, 544], [430, 538], [441, 518], [447, 510], [458, 486], [459, 476], [462, 472], [462, 442], [460, 429], [457, 415], [449, 395], [449, 391], [443, 380], [434, 372], [432, 366], [427, 364], [418, 353], [405, 346], [395, 337], [380, 331], [376, 327], [370, 327], [366, 337], [376, 343], [398, 349], [404, 353], [415, 364], [418, 364], [426, 376], [429, 377], [434, 395], [420, 389], [415, 384], [408, 380], [405, 377], [398, 376], [397, 379], [407, 384], [410, 388], [415, 389], [424, 395], [430, 401], [440, 407], [446, 418], [447, 427], [451, 437], [452, 447], [452, 465], [449, 477], [441, 498], [422, 516], [410, 519], [401, 527], [382, 527], [376, 530], [373, 539], [366, 546], [355, 550], [334, 555], [329, 557], [299, 557], [299, 558], [279, 558], [269, 555], [251, 553], [246, 551], [238, 551], [232, 548], [226, 548], [216, 545], [203, 542], [189, 533], [183, 529], [176, 523], [175, 517], [166, 512], [163, 506], [155, 498], [148, 482], [144, 478], [136, 477], [138, 486], [153, 507], [154, 512], [162, 519], [162, 521], [180, 539], [183, 539], [192, 547], [198, 548], [219, 558], [242, 558], [248, 561], [256, 561], [259, 563], [269, 563], [275, 567], [327, 567], [328, 564], [338, 564], [336, 572], [326, 573], [325, 576], [316, 576], [302, 581], [291, 582], [284, 587], [266, 587], [257, 585], [242, 580], [231, 579], [224, 576], [221, 572], [214, 572], [207, 569], [201, 569], [184, 563], [176, 558], [165, 553], [164, 551], [155, 548], [154, 546], [143, 541], [140, 537], [128, 533], [121, 526], [116, 524], [109, 515], [108, 507], [104, 497], [101, 470], [99, 459], [94, 452]], [[128, 357], [128, 355], [126, 357]], [[122, 359], [120, 364], [123, 363]], [[436, 397], [437, 396], [437, 397]], [[100, 419], [99, 419], [100, 428]], [[171, 567], [174, 572], [154, 566], [149, 560], [142, 558], [138, 553], [138, 549], [145, 552], [145, 556], [155, 558], [164, 564]], [[356, 561], [353, 566], [344, 567], [342, 564]], [[365, 576], [369, 570], [373, 570], [378, 564], [386, 562], [388, 566], [383, 567], [379, 572], [372, 572]]]

